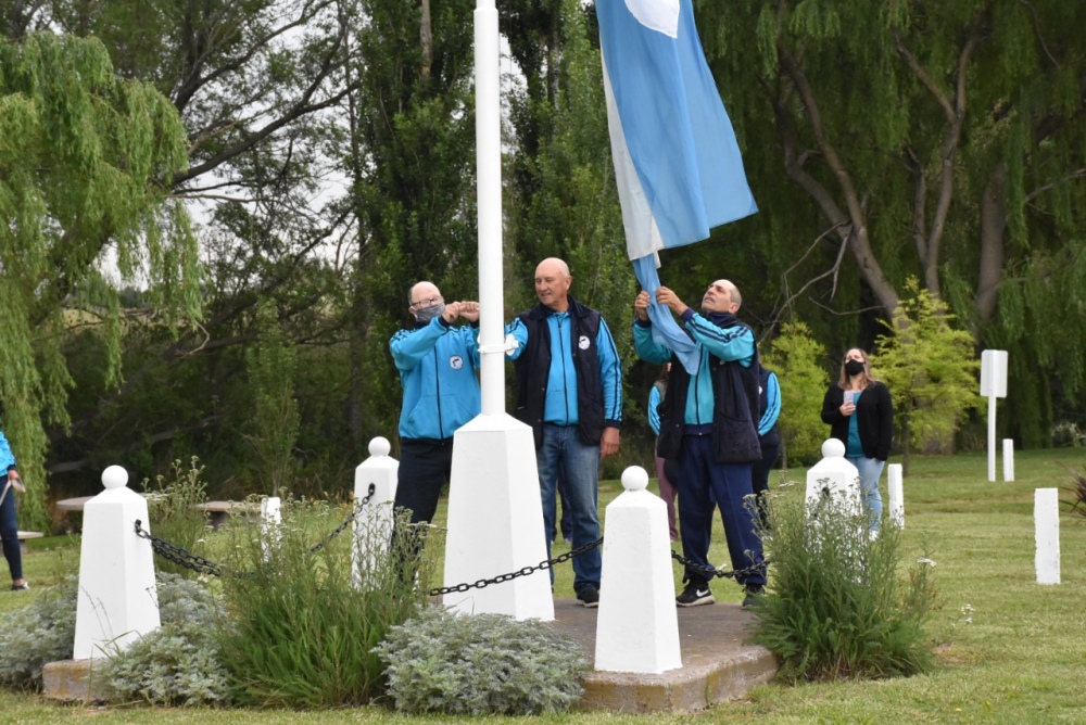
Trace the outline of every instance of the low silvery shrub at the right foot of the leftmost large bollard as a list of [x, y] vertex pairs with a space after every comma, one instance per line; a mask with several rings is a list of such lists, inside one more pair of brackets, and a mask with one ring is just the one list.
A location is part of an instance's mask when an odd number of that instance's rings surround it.
[[219, 601], [203, 586], [159, 575], [162, 627], [140, 637], [104, 667], [111, 699], [159, 705], [216, 704], [229, 700], [215, 631]]

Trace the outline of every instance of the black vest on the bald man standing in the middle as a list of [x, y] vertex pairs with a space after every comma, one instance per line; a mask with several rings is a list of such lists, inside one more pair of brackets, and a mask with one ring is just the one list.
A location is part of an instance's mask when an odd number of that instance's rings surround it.
[[[599, 445], [604, 434], [604, 389], [599, 380], [599, 357], [596, 354], [596, 335], [599, 332], [599, 313], [569, 297], [569, 344], [577, 371], [578, 431], [584, 445]], [[517, 407], [513, 416], [532, 427], [535, 448], [543, 445], [543, 407], [546, 384], [551, 373], [551, 326], [547, 316], [553, 314], [538, 304], [517, 317], [528, 330], [525, 352], [513, 361], [517, 377]], [[581, 349], [576, 341], [586, 336], [591, 343]]]

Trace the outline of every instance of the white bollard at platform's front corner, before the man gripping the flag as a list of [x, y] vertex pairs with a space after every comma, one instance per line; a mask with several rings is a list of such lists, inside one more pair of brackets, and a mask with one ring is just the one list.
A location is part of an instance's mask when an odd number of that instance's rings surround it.
[[682, 666], [667, 505], [640, 466], [606, 510], [595, 669], [660, 674]]

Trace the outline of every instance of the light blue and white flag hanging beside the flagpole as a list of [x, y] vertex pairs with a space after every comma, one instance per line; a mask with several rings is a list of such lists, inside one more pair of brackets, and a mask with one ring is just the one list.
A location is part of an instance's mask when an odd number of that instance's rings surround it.
[[[706, 239], [758, 207], [691, 0], [596, 0], [596, 16], [627, 253], [652, 295], [659, 250]], [[649, 315], [654, 336], [664, 333], [696, 371], [693, 343], [655, 297]]]

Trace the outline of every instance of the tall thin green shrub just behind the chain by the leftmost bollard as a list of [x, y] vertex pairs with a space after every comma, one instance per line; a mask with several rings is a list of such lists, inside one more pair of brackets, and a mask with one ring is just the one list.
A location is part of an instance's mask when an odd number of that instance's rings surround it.
[[[181, 468], [180, 460], [175, 460], [169, 468], [173, 481], [157, 475], [154, 479], [155, 485], [152, 486], [149, 479], [143, 479], [143, 491], [149, 494], [147, 508], [148, 518], [151, 520], [151, 533], [174, 546], [203, 555], [207, 518], [195, 506], [207, 499], [207, 485], [200, 480], [204, 469], [195, 456], [190, 459], [188, 470]], [[191, 569], [175, 564], [162, 557], [155, 559], [155, 567], [160, 571], [185, 577], [195, 575]]]

